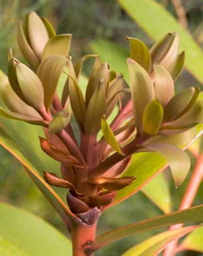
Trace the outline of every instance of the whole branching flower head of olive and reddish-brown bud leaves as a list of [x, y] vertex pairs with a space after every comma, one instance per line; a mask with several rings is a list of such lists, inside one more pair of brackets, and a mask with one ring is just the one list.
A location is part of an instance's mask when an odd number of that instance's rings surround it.
[[[150, 50], [140, 40], [127, 37], [129, 89], [123, 75], [111, 71], [98, 55], [73, 62], [71, 34], [56, 35], [45, 18], [31, 11], [24, 25], [20, 23], [17, 38], [29, 65], [9, 51], [8, 77], [0, 75], [0, 96], [8, 110], [1, 108], [0, 114], [43, 126], [41, 148], [61, 162], [62, 173], [57, 177], [44, 171], [44, 178], [55, 187], [69, 189], [67, 202], [78, 216], [109, 205], [117, 190], [134, 182], [135, 177], [121, 177], [133, 154], [156, 150], [153, 145], [161, 145], [160, 137], [164, 141], [202, 122], [199, 89], [174, 94], [174, 80], [184, 65], [177, 33], [166, 34]], [[82, 65], [90, 58], [94, 64], [83, 95]], [[66, 82], [59, 99], [56, 89], [62, 75]]]

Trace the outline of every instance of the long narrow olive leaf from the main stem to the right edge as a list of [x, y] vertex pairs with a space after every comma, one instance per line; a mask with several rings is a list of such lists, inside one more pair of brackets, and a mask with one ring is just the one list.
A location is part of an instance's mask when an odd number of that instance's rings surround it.
[[200, 222], [203, 220], [203, 205], [188, 208], [182, 211], [161, 215], [156, 218], [142, 220], [134, 224], [120, 227], [98, 236], [92, 243], [92, 250], [109, 245], [109, 243], [132, 236], [140, 232], [168, 227], [179, 223]]

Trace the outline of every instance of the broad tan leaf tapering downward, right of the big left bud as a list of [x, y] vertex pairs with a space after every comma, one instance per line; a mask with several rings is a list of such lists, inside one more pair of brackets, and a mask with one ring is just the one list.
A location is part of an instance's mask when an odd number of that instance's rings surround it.
[[37, 75], [44, 88], [44, 106], [46, 110], [49, 110], [52, 104], [59, 77], [66, 63], [67, 59], [63, 56], [50, 56], [38, 68]]

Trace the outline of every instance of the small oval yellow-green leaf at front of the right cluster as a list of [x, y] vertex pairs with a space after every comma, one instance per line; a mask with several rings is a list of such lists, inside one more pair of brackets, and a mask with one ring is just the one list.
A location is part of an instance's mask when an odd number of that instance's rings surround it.
[[149, 135], [157, 135], [163, 120], [163, 108], [157, 100], [147, 104], [142, 116], [144, 131]]

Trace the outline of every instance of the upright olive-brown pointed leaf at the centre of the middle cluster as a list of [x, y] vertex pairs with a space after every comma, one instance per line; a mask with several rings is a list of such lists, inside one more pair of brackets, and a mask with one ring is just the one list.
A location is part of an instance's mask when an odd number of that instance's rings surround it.
[[106, 112], [104, 80], [95, 89], [85, 115], [84, 128], [88, 134], [97, 134], [101, 129], [102, 115]]

